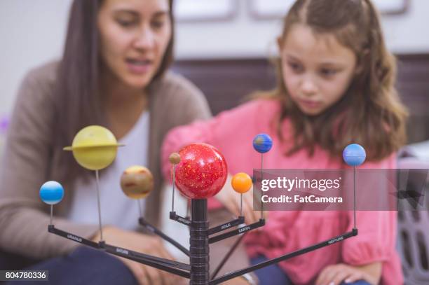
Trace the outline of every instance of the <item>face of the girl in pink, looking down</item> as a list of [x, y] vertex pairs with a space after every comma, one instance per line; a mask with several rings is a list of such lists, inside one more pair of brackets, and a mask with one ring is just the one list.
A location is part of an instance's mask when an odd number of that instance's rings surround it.
[[334, 34], [294, 24], [278, 45], [285, 87], [303, 113], [319, 115], [343, 97], [356, 72], [356, 57]]

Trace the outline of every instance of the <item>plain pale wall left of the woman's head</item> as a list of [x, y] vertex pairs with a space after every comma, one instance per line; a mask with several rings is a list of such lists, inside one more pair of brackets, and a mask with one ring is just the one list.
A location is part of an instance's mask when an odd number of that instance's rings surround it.
[[0, 0], [0, 117], [26, 72], [60, 57], [71, 0]]

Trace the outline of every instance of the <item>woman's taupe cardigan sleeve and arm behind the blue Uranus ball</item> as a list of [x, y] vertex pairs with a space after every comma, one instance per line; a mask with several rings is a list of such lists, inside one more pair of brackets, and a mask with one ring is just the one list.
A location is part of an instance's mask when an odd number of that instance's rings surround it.
[[[30, 72], [23, 81], [0, 172], [1, 249], [37, 259], [66, 253], [78, 245], [48, 233], [49, 207], [39, 198], [39, 188], [50, 179], [52, 167], [54, 72], [55, 66], [49, 64]], [[55, 206], [54, 214], [63, 204]], [[78, 225], [57, 216], [54, 223], [82, 237], [97, 231], [97, 225]]]

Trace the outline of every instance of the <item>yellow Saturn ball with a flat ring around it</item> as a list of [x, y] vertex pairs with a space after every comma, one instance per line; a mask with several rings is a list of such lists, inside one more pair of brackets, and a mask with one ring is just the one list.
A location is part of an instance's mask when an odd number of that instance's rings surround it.
[[64, 151], [72, 151], [74, 159], [86, 169], [100, 170], [114, 162], [118, 151], [114, 134], [105, 127], [90, 125], [80, 130], [73, 139], [71, 146]]

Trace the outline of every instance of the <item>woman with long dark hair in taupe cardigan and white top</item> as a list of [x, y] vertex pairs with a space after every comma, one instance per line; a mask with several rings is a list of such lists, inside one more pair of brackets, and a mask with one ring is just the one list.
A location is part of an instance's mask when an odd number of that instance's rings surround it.
[[48, 234], [49, 208], [38, 196], [44, 181], [60, 181], [65, 195], [55, 206], [55, 226], [98, 241], [94, 177], [62, 148], [81, 128], [104, 125], [128, 145], [102, 172], [102, 183], [109, 186], [101, 188], [102, 205], [109, 204], [102, 207], [104, 225], [109, 224], [104, 240], [171, 258], [156, 237], [118, 228], [137, 223], [137, 206], [134, 202], [128, 211], [130, 201], [112, 195], [124, 165], [149, 165], [155, 190], [144, 216], [157, 224], [164, 134], [210, 116], [200, 91], [167, 72], [173, 32], [171, 0], [74, 0], [61, 62], [34, 69], [22, 83], [1, 167], [0, 246], [37, 260], [57, 257], [32, 267], [50, 270], [54, 284], [177, 284], [160, 270], [75, 249], [77, 243]]

